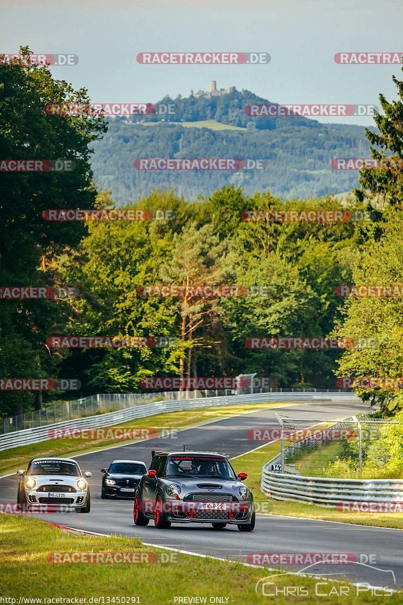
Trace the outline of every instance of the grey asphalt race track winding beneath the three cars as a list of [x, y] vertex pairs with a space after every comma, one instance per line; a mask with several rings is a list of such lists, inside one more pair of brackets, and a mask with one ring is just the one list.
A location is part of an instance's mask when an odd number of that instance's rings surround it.
[[[245, 407], [247, 410], [247, 407]], [[344, 523], [320, 522], [315, 520], [258, 514], [256, 528], [251, 533], [241, 533], [236, 526], [216, 531], [210, 525], [172, 525], [170, 529], [156, 529], [153, 522], [147, 527], [137, 527], [133, 522], [132, 500], [101, 500], [101, 468], [114, 459], [143, 460], [148, 466], [151, 450], [216, 451], [229, 457], [246, 453], [261, 445], [247, 439], [247, 431], [255, 427], [278, 428], [274, 413], [300, 418], [332, 418], [350, 416], [366, 411], [363, 404], [330, 404], [315, 402], [292, 404], [278, 408], [259, 410], [178, 433], [176, 439], [153, 439], [142, 443], [117, 446], [113, 449], [84, 454], [78, 457], [82, 471], [91, 471], [91, 512], [89, 514], [60, 513], [35, 515], [44, 520], [88, 531], [124, 534], [139, 537], [155, 546], [183, 549], [199, 554], [247, 560], [251, 553], [349, 553], [359, 561], [361, 555], [375, 555], [372, 566], [353, 563], [315, 564], [305, 573], [338, 578], [341, 575], [350, 581], [369, 582], [373, 586], [403, 586], [403, 531], [398, 529], [370, 528]], [[152, 424], [152, 420], [150, 422]], [[135, 426], [135, 421], [134, 421]], [[28, 460], [27, 460], [28, 462]], [[234, 469], [248, 472], [247, 468]], [[17, 470], [17, 469], [16, 469]], [[18, 485], [17, 476], [0, 479], [0, 502], [15, 502]], [[367, 563], [368, 559], [361, 559]], [[288, 566], [301, 571], [299, 566]], [[378, 568], [378, 569], [375, 569]], [[271, 572], [262, 573], [262, 577]]]

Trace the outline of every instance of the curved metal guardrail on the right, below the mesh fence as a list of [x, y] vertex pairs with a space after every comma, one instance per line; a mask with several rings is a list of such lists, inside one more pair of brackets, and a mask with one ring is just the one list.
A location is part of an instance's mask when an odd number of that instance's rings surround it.
[[[315, 441], [308, 437], [295, 442], [285, 451], [295, 451], [306, 445], [309, 440], [315, 444]], [[284, 471], [283, 460], [284, 451], [269, 460], [262, 469], [260, 489], [274, 500], [289, 500], [326, 507], [342, 506], [342, 503], [351, 502], [403, 502], [403, 479], [306, 477], [271, 470], [272, 465], [279, 465]]]

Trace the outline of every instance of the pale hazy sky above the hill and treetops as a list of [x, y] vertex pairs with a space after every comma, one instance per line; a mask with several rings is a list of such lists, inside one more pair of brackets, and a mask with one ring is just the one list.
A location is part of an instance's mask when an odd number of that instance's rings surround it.
[[[236, 86], [277, 103], [379, 105], [398, 65], [338, 65], [340, 51], [402, 51], [403, 0], [0, 0], [1, 51], [74, 53], [55, 77], [96, 102], [154, 102]], [[268, 65], [140, 65], [141, 51], [265, 51]], [[402, 76], [403, 77], [403, 76]], [[372, 123], [369, 117], [326, 121]]]

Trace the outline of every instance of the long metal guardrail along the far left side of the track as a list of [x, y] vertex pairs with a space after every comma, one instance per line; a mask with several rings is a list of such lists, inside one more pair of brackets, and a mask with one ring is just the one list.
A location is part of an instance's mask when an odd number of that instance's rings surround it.
[[124, 410], [98, 414], [97, 416], [87, 416], [76, 420], [65, 420], [57, 424], [47, 425], [45, 427], [36, 427], [24, 431], [13, 431], [0, 436], [0, 451], [16, 448], [30, 443], [39, 443], [50, 439], [49, 431], [59, 427], [74, 428], [100, 428], [112, 427], [122, 422], [128, 422], [136, 418], [146, 416], [155, 416], [164, 412], [179, 410], [192, 410], [194, 408], [207, 408], [223, 405], [247, 405], [264, 402], [284, 401], [306, 401], [306, 402], [356, 402], [360, 401], [352, 393], [328, 393], [315, 391], [314, 393], [254, 393], [245, 395], [229, 395], [224, 397], [204, 397], [202, 399], [182, 399], [181, 401], [156, 401], [151, 404], [137, 405]]

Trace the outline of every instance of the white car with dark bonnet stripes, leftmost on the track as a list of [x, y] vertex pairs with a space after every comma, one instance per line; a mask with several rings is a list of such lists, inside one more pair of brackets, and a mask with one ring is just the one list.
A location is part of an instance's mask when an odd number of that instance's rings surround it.
[[64, 510], [89, 512], [91, 500], [87, 479], [92, 473], [82, 473], [71, 458], [34, 458], [20, 476], [17, 502], [62, 506]]

